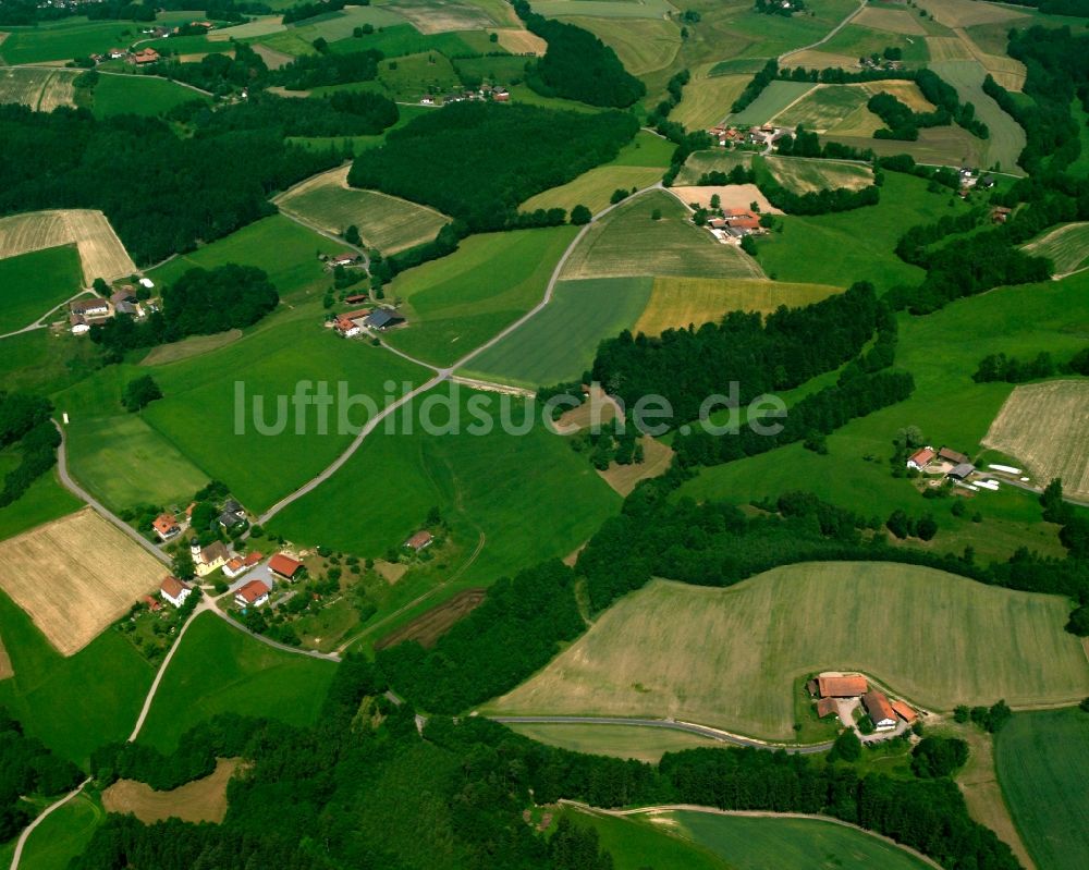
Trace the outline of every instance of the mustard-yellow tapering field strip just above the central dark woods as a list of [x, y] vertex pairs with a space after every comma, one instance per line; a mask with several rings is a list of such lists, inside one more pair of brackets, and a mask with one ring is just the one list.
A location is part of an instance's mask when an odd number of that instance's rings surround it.
[[666, 329], [699, 327], [727, 311], [771, 314], [820, 302], [840, 287], [750, 278], [657, 278], [650, 302], [632, 332], [660, 335]]

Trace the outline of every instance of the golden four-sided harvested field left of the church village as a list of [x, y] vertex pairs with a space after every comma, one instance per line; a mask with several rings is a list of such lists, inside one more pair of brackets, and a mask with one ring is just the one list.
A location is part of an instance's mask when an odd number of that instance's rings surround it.
[[87, 646], [166, 573], [89, 507], [0, 542], [0, 587], [64, 655]]

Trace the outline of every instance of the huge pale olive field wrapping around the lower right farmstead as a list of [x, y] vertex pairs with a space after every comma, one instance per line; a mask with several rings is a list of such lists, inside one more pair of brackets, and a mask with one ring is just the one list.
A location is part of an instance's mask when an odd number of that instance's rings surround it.
[[487, 710], [674, 716], [790, 739], [791, 686], [822, 670], [943, 710], [1070, 702], [1089, 691], [1089, 662], [1063, 630], [1068, 612], [1059, 596], [888, 563], [790, 565], [729, 589], [654, 580]]

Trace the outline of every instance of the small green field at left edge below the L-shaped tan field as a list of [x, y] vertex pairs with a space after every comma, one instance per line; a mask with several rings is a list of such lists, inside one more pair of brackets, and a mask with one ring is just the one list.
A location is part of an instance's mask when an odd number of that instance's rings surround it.
[[82, 286], [83, 267], [75, 245], [0, 260], [0, 333], [45, 317]]

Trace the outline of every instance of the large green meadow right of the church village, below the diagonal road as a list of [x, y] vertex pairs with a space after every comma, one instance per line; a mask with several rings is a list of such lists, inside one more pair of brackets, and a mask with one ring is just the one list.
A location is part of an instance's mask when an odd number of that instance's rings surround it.
[[[448, 404], [461, 415], [458, 433], [421, 431], [425, 407], [441, 427], [449, 419]], [[505, 433], [502, 413], [526, 433]], [[527, 414], [534, 415], [528, 427]], [[451, 538], [466, 553], [482, 541], [461, 576], [480, 586], [566, 555], [620, 506], [620, 497], [586, 457], [544, 429], [536, 403], [443, 387], [414, 403], [411, 430], [404, 411], [393, 416], [394, 433], [384, 424], [379, 427], [337, 475], [273, 517], [270, 530], [293, 541], [380, 556], [400, 547], [438, 506]], [[491, 431], [479, 432], [478, 416], [492, 422]]]

